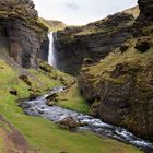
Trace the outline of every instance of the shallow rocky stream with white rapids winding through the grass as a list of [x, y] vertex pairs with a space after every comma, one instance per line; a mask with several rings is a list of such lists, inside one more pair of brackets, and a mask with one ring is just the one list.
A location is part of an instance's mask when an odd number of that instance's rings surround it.
[[[66, 117], [73, 117], [80, 125], [80, 130], [89, 130], [103, 137], [116, 139], [125, 143], [132, 144], [146, 152], [153, 152], [153, 143], [136, 137], [128, 130], [103, 122], [98, 118], [89, 115], [80, 114], [58, 106], [48, 106], [46, 104], [49, 95], [64, 91], [64, 86], [54, 87], [48, 94], [39, 96], [34, 101], [22, 103], [22, 107], [27, 115], [38, 116], [54, 122], [58, 122]], [[83, 126], [84, 125], [84, 126]]]

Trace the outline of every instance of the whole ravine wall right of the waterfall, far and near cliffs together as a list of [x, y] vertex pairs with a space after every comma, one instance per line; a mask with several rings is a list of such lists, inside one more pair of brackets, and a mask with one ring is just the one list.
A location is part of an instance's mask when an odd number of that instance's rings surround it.
[[56, 34], [57, 67], [79, 75], [92, 114], [153, 140], [153, 1], [139, 0], [137, 20], [117, 13]]

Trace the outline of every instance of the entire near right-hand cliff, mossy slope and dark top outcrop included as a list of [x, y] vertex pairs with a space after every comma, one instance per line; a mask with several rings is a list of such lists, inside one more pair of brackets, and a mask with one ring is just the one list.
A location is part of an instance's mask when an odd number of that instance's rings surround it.
[[138, 3], [133, 37], [98, 63], [84, 66], [79, 86], [93, 115], [153, 139], [153, 1]]

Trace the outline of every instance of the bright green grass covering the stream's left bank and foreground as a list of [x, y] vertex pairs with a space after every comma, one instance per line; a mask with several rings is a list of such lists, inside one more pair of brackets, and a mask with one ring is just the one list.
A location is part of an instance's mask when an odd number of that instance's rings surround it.
[[[37, 78], [43, 80], [35, 81], [31, 79], [33, 87], [45, 89], [61, 84], [59, 81], [48, 79], [48, 75], [42, 71], [36, 72]], [[19, 79], [19, 72], [10, 68], [4, 61], [0, 60], [0, 114], [11, 123], [13, 123], [26, 138], [28, 143], [40, 153], [139, 153], [140, 151], [131, 145], [126, 145], [118, 141], [101, 139], [90, 132], [70, 133], [59, 129], [55, 123], [38, 117], [26, 116], [20, 107], [16, 99], [28, 96], [28, 87]], [[37, 84], [37, 85], [36, 85]], [[13, 96], [9, 89], [17, 90], [19, 95]], [[78, 102], [79, 103], [79, 102]], [[0, 139], [0, 152], [2, 152], [4, 140]]]

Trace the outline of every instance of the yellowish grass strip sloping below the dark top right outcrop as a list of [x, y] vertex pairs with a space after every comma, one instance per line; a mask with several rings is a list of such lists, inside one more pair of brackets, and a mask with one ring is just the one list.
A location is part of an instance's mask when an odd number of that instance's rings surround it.
[[[141, 54], [137, 49], [136, 39], [131, 39], [129, 43], [129, 49], [121, 54], [119, 49], [115, 50], [114, 52], [109, 54], [104, 60], [99, 63], [92, 66], [87, 69], [90, 74], [93, 74], [97, 79], [110, 79], [108, 72], [113, 71], [118, 63], [130, 63], [131, 66], [140, 64], [145, 66], [149, 61], [153, 59], [153, 49], [151, 48], [148, 52]], [[85, 70], [86, 68], [84, 68]], [[95, 81], [97, 81], [94, 78]]]

